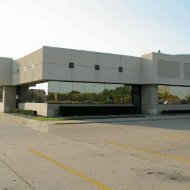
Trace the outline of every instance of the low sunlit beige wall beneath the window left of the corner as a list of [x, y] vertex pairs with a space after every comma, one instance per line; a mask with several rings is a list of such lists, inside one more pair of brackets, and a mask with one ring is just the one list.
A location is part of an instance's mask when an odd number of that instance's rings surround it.
[[23, 110], [35, 110], [38, 115], [47, 116], [47, 104], [46, 103], [20, 103], [19, 109]]

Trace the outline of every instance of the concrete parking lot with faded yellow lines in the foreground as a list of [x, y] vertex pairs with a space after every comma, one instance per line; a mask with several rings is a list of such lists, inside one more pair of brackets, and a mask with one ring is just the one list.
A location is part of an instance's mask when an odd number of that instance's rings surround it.
[[190, 117], [0, 122], [0, 190], [190, 189]]

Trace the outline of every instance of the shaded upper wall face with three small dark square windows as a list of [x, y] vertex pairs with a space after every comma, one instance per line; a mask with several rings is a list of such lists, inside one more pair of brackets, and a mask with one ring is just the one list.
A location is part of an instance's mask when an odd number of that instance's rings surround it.
[[[44, 80], [88, 81], [110, 83], [140, 83], [141, 58], [106, 53], [43, 48]], [[74, 62], [75, 68], [69, 68]], [[100, 70], [95, 70], [95, 65]], [[118, 67], [123, 72], [118, 72]]]

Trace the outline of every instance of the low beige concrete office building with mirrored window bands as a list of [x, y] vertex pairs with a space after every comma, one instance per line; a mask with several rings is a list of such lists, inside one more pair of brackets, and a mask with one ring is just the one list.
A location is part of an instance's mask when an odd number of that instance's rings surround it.
[[[190, 110], [190, 55], [142, 57], [42, 47], [20, 59], [0, 58], [0, 111], [61, 106], [136, 106], [138, 113]], [[110, 107], [111, 108], [111, 107]]]

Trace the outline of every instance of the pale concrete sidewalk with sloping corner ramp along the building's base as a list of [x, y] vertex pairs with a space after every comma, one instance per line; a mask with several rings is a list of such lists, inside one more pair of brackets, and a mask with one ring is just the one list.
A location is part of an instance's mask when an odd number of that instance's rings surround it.
[[33, 130], [40, 131], [43, 133], [48, 133], [50, 126], [55, 125], [71, 125], [71, 124], [90, 124], [90, 123], [118, 123], [118, 122], [141, 122], [141, 121], [151, 121], [151, 120], [173, 120], [173, 119], [190, 119], [190, 115], [158, 115], [158, 116], [135, 116], [135, 117], [106, 117], [106, 118], [77, 118], [74, 120], [60, 120], [60, 121], [38, 121], [32, 118], [25, 118], [19, 115], [0, 115], [2, 120], [18, 123], [26, 127], [30, 127]]

